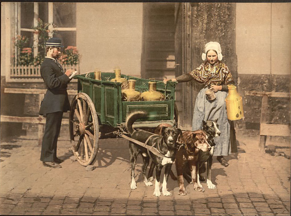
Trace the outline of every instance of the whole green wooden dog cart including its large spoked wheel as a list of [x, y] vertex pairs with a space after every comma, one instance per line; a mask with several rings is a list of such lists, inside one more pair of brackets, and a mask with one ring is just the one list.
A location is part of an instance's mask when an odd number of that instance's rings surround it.
[[[114, 73], [101, 73], [101, 80], [94, 79], [94, 72], [74, 76], [78, 79], [78, 94], [71, 102], [69, 130], [72, 151], [82, 166], [95, 162], [98, 140], [117, 137], [125, 132], [125, 120], [135, 111], [148, 115], [134, 123], [135, 128], [152, 130], [161, 123], [177, 126], [178, 112], [175, 104], [177, 82], [164, 85], [157, 81], [157, 91], [166, 94], [164, 101], [122, 101], [122, 85], [110, 82]], [[137, 91], [148, 91], [149, 79], [121, 75], [135, 79]], [[118, 132], [118, 133], [117, 133]]]

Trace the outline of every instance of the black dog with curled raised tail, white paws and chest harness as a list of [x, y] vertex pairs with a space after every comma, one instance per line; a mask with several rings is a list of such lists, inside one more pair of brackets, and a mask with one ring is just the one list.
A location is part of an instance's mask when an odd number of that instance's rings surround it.
[[[181, 130], [179, 128], [175, 127], [164, 127], [162, 128], [162, 135], [156, 135], [152, 134], [147, 131], [143, 130], [134, 130], [132, 127], [133, 123], [141, 118], [142, 116], [146, 116], [145, 112], [134, 112], [131, 113], [128, 118], [126, 119], [126, 128], [128, 133], [131, 135], [132, 139], [138, 140], [142, 143], [146, 143], [149, 146], [154, 146], [158, 151], [164, 155], [164, 157], [159, 157], [154, 155], [152, 152], [150, 153], [150, 156], [152, 158], [152, 161], [156, 165], [156, 181], [155, 181], [155, 196], [161, 196], [160, 192], [160, 175], [161, 170], [165, 166], [165, 174], [164, 174], [164, 180], [163, 180], [163, 187], [162, 192], [164, 196], [171, 196], [171, 193], [167, 191], [167, 180], [169, 177], [169, 173], [172, 167], [172, 164], [175, 160], [176, 155], [176, 141], [178, 138], [178, 135], [181, 134]], [[149, 182], [146, 178], [146, 169], [149, 165], [149, 154], [147, 152], [147, 149], [143, 146], [137, 145], [133, 142], [129, 142], [129, 156], [130, 156], [130, 163], [131, 163], [131, 189], [136, 189], [137, 184], [134, 180], [134, 168], [137, 161], [137, 155], [141, 154], [143, 156], [143, 178], [144, 183], [146, 186], [151, 186], [152, 182]]]

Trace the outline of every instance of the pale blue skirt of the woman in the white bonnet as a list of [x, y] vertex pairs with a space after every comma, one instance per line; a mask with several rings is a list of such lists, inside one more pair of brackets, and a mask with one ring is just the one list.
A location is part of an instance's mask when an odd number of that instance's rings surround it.
[[192, 120], [192, 130], [202, 129], [202, 120], [207, 121], [209, 119], [218, 119], [217, 123], [219, 125], [220, 137], [215, 137], [214, 142], [214, 156], [227, 156], [231, 153], [230, 148], [230, 124], [227, 119], [226, 113], [226, 103], [225, 98], [227, 92], [217, 91], [215, 92], [215, 100], [209, 101], [205, 95], [205, 91], [208, 88], [202, 88], [196, 98], [193, 120]]

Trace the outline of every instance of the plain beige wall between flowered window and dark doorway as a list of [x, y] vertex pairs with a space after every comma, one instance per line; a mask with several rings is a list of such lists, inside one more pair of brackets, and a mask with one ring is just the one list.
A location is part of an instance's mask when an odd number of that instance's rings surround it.
[[143, 3], [76, 3], [81, 73], [120, 67], [140, 75]]

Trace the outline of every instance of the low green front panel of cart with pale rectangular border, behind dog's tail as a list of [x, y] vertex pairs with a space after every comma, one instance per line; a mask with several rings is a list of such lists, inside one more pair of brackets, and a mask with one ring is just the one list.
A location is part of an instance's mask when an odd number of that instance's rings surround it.
[[173, 120], [171, 116], [172, 101], [122, 101], [122, 120], [136, 111], [147, 112], [148, 115], [137, 121]]

